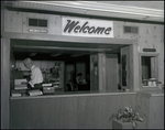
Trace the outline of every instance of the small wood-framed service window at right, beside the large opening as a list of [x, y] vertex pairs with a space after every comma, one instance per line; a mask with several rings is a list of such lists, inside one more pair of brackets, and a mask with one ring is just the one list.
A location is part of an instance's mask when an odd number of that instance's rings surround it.
[[140, 54], [140, 86], [157, 88], [158, 83], [158, 53]]

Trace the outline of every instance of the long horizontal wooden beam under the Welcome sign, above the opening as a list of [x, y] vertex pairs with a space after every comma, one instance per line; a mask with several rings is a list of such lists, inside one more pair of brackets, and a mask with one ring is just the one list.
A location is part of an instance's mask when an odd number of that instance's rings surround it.
[[94, 43], [94, 44], [120, 44], [120, 45], [129, 45], [133, 42], [136, 42], [136, 40], [129, 40], [129, 39], [111, 39], [111, 37], [81, 37], [81, 36], [64, 36], [64, 35], [53, 35], [53, 34], [25, 34], [25, 33], [8, 33], [4, 32], [3, 37], [10, 37], [10, 39], [19, 39], [19, 40], [41, 40], [41, 41], [56, 41], [56, 42], [73, 42], [73, 43]]

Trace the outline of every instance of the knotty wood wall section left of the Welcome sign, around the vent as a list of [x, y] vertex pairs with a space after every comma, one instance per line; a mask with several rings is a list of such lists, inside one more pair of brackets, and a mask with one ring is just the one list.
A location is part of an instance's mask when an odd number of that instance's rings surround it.
[[[35, 19], [47, 19], [48, 20], [48, 34], [62, 34], [61, 26], [62, 20], [61, 15], [51, 15], [51, 14], [38, 14], [38, 13], [25, 13], [19, 11], [4, 11], [4, 32], [20, 32], [29, 33], [28, 18]], [[37, 29], [37, 28], [33, 28]], [[46, 29], [47, 28], [43, 28]]]

